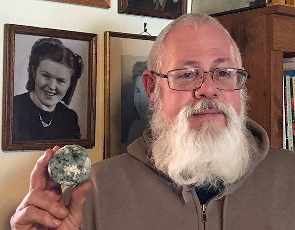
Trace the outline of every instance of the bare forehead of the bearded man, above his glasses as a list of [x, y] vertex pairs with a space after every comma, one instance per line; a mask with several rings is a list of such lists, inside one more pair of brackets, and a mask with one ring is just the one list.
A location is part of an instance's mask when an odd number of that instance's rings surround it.
[[[228, 36], [217, 25], [177, 26], [165, 38], [165, 62], [171, 67], [199, 66], [204, 59], [214, 67], [219, 64], [234, 65], [236, 62], [233, 44]], [[167, 70], [169, 70], [167, 69]]]

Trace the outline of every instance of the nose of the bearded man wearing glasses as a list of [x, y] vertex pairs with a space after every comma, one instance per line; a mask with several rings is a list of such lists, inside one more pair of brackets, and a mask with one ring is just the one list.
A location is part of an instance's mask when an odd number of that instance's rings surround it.
[[195, 97], [197, 99], [216, 99], [219, 94], [220, 92], [213, 82], [212, 73], [204, 73], [202, 85], [195, 91]]

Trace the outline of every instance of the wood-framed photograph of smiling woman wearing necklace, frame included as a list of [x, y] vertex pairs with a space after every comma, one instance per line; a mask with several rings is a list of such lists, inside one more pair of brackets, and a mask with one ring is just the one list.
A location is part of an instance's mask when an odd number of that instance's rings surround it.
[[97, 34], [4, 25], [2, 150], [95, 144]]

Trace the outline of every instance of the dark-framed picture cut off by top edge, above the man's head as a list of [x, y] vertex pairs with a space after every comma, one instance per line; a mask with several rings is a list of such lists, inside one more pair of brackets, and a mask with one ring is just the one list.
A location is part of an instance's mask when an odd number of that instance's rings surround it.
[[118, 0], [118, 12], [176, 19], [187, 12], [187, 0]]

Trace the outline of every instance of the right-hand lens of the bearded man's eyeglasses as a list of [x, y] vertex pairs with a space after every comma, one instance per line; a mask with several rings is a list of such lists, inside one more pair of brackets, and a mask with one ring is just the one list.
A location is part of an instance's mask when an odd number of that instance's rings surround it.
[[221, 90], [242, 89], [247, 79], [247, 71], [237, 68], [218, 68], [214, 70], [214, 83]]

